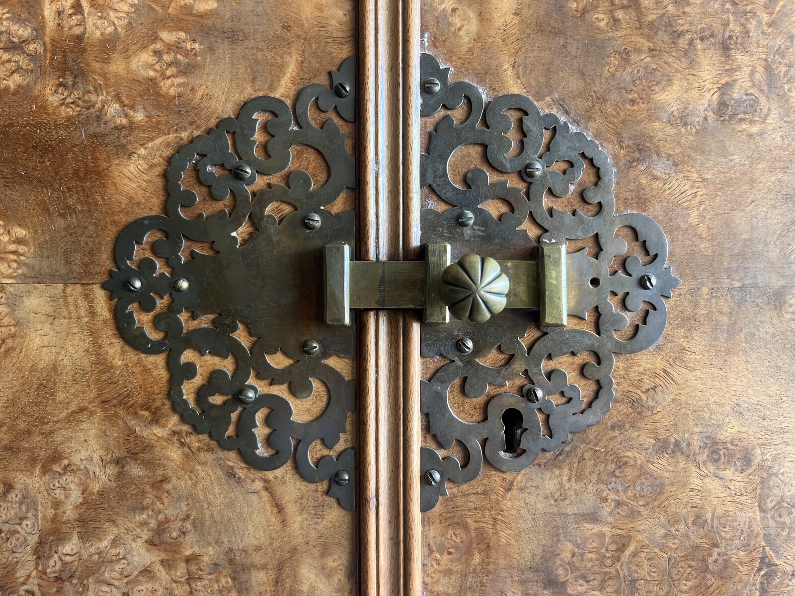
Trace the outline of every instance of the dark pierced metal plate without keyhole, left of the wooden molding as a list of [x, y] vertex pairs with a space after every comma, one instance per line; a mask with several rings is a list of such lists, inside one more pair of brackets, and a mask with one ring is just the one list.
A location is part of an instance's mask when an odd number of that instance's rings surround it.
[[[346, 381], [324, 362], [335, 354], [353, 356], [355, 330], [323, 323], [323, 246], [354, 242], [353, 211], [333, 215], [324, 207], [354, 187], [355, 160], [347, 151], [346, 134], [332, 118], [316, 126], [309, 117], [310, 106], [316, 102], [322, 112], [335, 110], [347, 122], [354, 121], [354, 58], [345, 60], [339, 72], [331, 75], [331, 87], [312, 84], [301, 90], [295, 118], [281, 99], [258, 97], [242, 106], [238, 118], [224, 118], [209, 134], [180, 147], [166, 172], [166, 215], [138, 219], [119, 234], [118, 269], [111, 271], [103, 287], [111, 291], [112, 300], [118, 300], [116, 319], [126, 342], [146, 354], [168, 353], [169, 398], [185, 422], [197, 432], [209, 433], [224, 449], [239, 450], [259, 470], [283, 466], [295, 444], [301, 475], [309, 482], [328, 480], [328, 493], [346, 509], [353, 509], [353, 448], [343, 451], [339, 459], [327, 455], [315, 464], [309, 458], [315, 441], [322, 439], [329, 448], [339, 442], [347, 412], [355, 408], [353, 381]], [[255, 139], [259, 126], [266, 126], [271, 135], [266, 151]], [[328, 180], [316, 188], [308, 172], [296, 170], [289, 174], [287, 185], [258, 185], [258, 176], [289, 169], [291, 149], [297, 145], [308, 145], [322, 154]], [[183, 186], [185, 172], [194, 166], [212, 199], [234, 198], [231, 211], [201, 213], [194, 219], [184, 215], [182, 210], [198, 201], [196, 192]], [[252, 192], [252, 187], [258, 190]], [[296, 211], [278, 222], [266, 215], [277, 202], [289, 203]], [[238, 230], [246, 225], [253, 225], [254, 231], [242, 244]], [[154, 256], [165, 261], [170, 271], [153, 257], [133, 265], [138, 245], [145, 244], [155, 230], [163, 237], [153, 242]], [[211, 243], [213, 254], [186, 250], [186, 241]], [[133, 307], [155, 312], [159, 301], [167, 297], [168, 308], [154, 319], [165, 337], [153, 339], [138, 326]], [[214, 318], [209, 326], [186, 328], [188, 312], [195, 319]], [[256, 338], [252, 346], [234, 335], [241, 325]], [[234, 357], [236, 370], [212, 370], [196, 395], [188, 396], [184, 385], [198, 372], [186, 355], [188, 350]], [[272, 364], [268, 355], [279, 350], [294, 362], [282, 368]], [[314, 420], [294, 420], [290, 401], [261, 392], [254, 378], [273, 385], [289, 383], [299, 399], [310, 397], [313, 382], [322, 381], [328, 386], [328, 406]], [[258, 421], [262, 410], [268, 413]], [[261, 421], [272, 429], [267, 451], [256, 432]]]

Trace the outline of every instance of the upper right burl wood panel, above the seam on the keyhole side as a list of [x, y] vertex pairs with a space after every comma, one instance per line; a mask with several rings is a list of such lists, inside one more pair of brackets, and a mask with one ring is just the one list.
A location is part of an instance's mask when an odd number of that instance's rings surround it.
[[425, 2], [422, 19], [453, 77], [529, 95], [599, 142], [619, 212], [661, 223], [685, 285], [795, 284], [795, 6]]

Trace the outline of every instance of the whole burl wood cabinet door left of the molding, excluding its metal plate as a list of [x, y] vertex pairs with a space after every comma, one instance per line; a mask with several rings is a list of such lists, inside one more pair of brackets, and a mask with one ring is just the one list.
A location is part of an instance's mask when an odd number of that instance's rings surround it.
[[[126, 345], [118, 300], [102, 287], [118, 266], [119, 232], [165, 213], [165, 172], [180, 146], [256, 96], [293, 107], [301, 88], [328, 87], [328, 72], [355, 54], [355, 17], [350, 2], [0, 6], [0, 594], [355, 592], [355, 514], [325, 496], [328, 483], [304, 481], [294, 459], [256, 470], [219, 447], [223, 436], [180, 420], [169, 356]], [[333, 118], [352, 155], [353, 125]], [[305, 170], [320, 184], [324, 168], [315, 149], [298, 147], [290, 168], [266, 182]], [[199, 196], [183, 207], [186, 218], [234, 211], [234, 199], [210, 195], [196, 163], [182, 180]], [[352, 205], [347, 190], [335, 209]], [[272, 210], [278, 219], [287, 211]], [[161, 237], [138, 246], [134, 265]], [[188, 243], [186, 258], [192, 249], [217, 252]], [[153, 339], [165, 335], [153, 321], [168, 303], [135, 307]], [[246, 329], [238, 336], [254, 342]], [[200, 352], [184, 360], [198, 366], [189, 397], [211, 370], [239, 366]], [[351, 379], [351, 358], [333, 363]], [[287, 384], [252, 383], [284, 395], [297, 420], [312, 420], [329, 399], [322, 383], [304, 399]], [[352, 444], [343, 434], [333, 449], [313, 444], [310, 456]]]

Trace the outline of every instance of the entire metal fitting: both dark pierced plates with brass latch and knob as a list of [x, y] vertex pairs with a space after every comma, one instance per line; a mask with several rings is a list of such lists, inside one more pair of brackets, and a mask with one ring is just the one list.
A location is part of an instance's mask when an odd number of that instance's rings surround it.
[[[238, 118], [225, 118], [209, 134], [183, 145], [166, 172], [166, 214], [138, 219], [122, 230], [115, 249], [118, 269], [104, 288], [111, 291], [111, 300], [118, 300], [116, 318], [126, 342], [146, 354], [168, 354], [169, 397], [185, 422], [224, 449], [238, 450], [259, 470], [283, 466], [295, 451], [302, 476], [309, 482], [328, 481], [328, 493], [346, 509], [354, 508], [353, 448], [336, 459], [326, 455], [312, 462], [309, 456], [316, 441], [322, 439], [328, 448], [339, 443], [347, 412], [355, 409], [353, 382], [326, 362], [355, 354], [355, 329], [324, 324], [324, 307], [326, 317], [332, 312], [332, 321], [338, 322], [350, 319], [351, 304], [424, 305], [428, 320], [436, 323], [448, 318], [446, 304], [456, 318], [469, 319], [422, 329], [422, 355], [448, 359], [422, 383], [422, 411], [429, 416], [430, 432], [440, 447], [448, 449], [458, 440], [469, 452], [462, 466], [456, 457], [423, 447], [418, 471], [425, 478], [421, 506], [428, 510], [447, 494], [447, 480], [474, 479], [484, 456], [499, 470], [522, 470], [542, 450], [551, 451], [570, 433], [599, 422], [614, 396], [614, 354], [644, 350], [660, 338], [666, 321], [662, 298], [670, 297], [680, 282], [665, 266], [668, 246], [660, 227], [645, 215], [615, 215], [613, 168], [595, 141], [555, 115], [542, 114], [523, 95], [501, 95], [487, 106], [471, 83], [449, 83], [449, 69], [428, 54], [421, 58], [422, 116], [455, 110], [465, 100], [471, 108], [463, 122], [450, 115], [441, 119], [430, 134], [428, 153], [421, 156], [422, 186], [453, 208], [422, 210], [421, 241], [430, 247], [425, 264], [381, 262], [374, 267], [350, 261], [353, 211], [335, 214], [329, 207], [354, 187], [355, 160], [335, 121], [328, 118], [316, 126], [309, 110], [316, 102], [321, 112], [335, 110], [353, 122], [354, 59], [331, 75], [331, 86], [312, 84], [301, 90], [294, 118], [280, 99], [259, 97], [242, 106]], [[524, 114], [518, 152], [508, 136], [513, 122], [507, 110]], [[270, 134], [264, 148], [258, 142], [263, 129]], [[328, 165], [324, 184], [300, 169], [289, 171], [297, 145], [323, 156]], [[525, 188], [491, 182], [483, 168], [469, 169], [465, 188], [456, 186], [449, 162], [465, 145], [483, 145], [491, 167], [518, 174]], [[586, 161], [597, 180], [582, 198], [596, 211], [557, 209], [554, 199], [572, 192]], [[184, 184], [190, 168], [196, 169], [211, 201], [234, 199], [234, 206], [211, 215], [186, 215], [199, 200]], [[287, 184], [258, 180], [279, 172], [289, 172]], [[492, 199], [501, 199], [510, 212], [499, 219], [491, 215], [484, 205]], [[294, 211], [277, 220], [269, 207], [278, 203]], [[538, 242], [523, 227], [529, 219], [544, 230]], [[645, 261], [627, 254], [627, 243], [618, 234], [625, 226], [645, 243]], [[149, 238], [153, 232], [157, 236]], [[572, 246], [567, 242], [590, 237], [599, 246], [595, 256], [585, 249], [565, 254]], [[151, 256], [138, 254], [142, 245], [151, 245]], [[450, 257], [456, 261], [452, 265]], [[615, 269], [616, 258], [622, 268]], [[533, 259], [537, 265], [525, 267]], [[330, 263], [339, 275], [324, 271]], [[501, 264], [510, 276], [502, 273]], [[354, 266], [358, 273], [351, 277]], [[567, 282], [567, 268], [573, 285]], [[394, 275], [387, 276], [387, 269]], [[538, 286], [531, 271], [541, 274]], [[324, 281], [324, 273], [331, 279]], [[355, 288], [353, 301], [351, 279], [370, 284]], [[412, 282], [410, 291], [407, 281]], [[547, 300], [552, 288], [556, 298]], [[516, 292], [524, 298], [518, 300]], [[546, 297], [539, 301], [538, 296]], [[628, 319], [611, 296], [624, 296], [626, 312], [648, 311], [632, 337], [616, 335]], [[432, 300], [440, 303], [430, 308]], [[538, 308], [525, 308], [533, 304]], [[155, 313], [159, 335], [153, 337], [151, 329], [139, 324], [137, 310]], [[589, 312], [598, 312], [596, 332], [564, 326], [567, 315], [585, 320]], [[535, 332], [529, 334], [533, 326]], [[522, 338], [534, 340], [525, 339], [525, 344]], [[487, 366], [484, 358], [498, 346], [508, 360]], [[548, 359], [585, 351], [597, 357], [582, 370], [599, 385], [592, 399], [584, 399], [562, 368], [545, 369]], [[234, 370], [215, 367], [199, 377], [196, 353], [233, 358], [235, 366], [229, 368]], [[490, 385], [512, 383], [519, 389], [490, 397], [485, 419], [467, 422], [448, 402], [460, 379], [465, 399], [487, 395]], [[307, 399], [317, 382], [328, 388], [328, 405], [313, 420], [296, 420], [291, 401], [266, 391], [270, 385], [289, 384], [297, 399]], [[270, 428], [270, 435], [262, 436], [262, 427]]]

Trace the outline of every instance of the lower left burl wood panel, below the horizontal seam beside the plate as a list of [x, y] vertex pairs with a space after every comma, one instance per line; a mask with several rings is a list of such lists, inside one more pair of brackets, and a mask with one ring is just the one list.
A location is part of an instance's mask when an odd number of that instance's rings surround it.
[[116, 337], [106, 292], [7, 284], [6, 304], [4, 593], [354, 593], [353, 515], [292, 460], [258, 472], [182, 423], [165, 355]]

